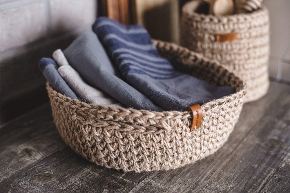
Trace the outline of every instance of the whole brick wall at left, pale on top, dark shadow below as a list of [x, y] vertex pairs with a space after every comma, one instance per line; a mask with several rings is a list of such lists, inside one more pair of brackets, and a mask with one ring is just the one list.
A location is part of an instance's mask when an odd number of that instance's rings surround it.
[[90, 30], [96, 12], [97, 0], [0, 0], [0, 124], [13, 118], [8, 106], [48, 101], [39, 59]]

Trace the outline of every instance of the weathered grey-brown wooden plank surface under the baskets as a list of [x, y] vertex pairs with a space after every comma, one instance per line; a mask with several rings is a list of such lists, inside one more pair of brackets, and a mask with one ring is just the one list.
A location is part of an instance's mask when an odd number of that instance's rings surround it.
[[[15, 109], [17, 111], [17, 109]], [[228, 141], [185, 167], [124, 173], [79, 157], [46, 104], [0, 127], [1, 192], [290, 192], [290, 85], [245, 104]]]

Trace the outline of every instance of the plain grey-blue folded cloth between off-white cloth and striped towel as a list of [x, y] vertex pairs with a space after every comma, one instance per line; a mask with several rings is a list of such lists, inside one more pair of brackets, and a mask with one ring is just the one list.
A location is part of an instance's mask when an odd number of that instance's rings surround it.
[[79, 36], [64, 50], [64, 55], [85, 82], [104, 91], [123, 105], [135, 109], [163, 111], [122, 80], [122, 75], [110, 62], [95, 33], [85, 32]]

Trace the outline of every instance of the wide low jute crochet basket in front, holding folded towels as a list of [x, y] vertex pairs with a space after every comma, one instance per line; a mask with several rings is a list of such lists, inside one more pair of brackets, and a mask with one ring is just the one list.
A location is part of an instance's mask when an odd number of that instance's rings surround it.
[[236, 92], [204, 103], [200, 128], [190, 131], [189, 111], [154, 112], [87, 104], [58, 93], [47, 83], [55, 125], [79, 155], [126, 172], [168, 170], [214, 153], [227, 140], [242, 109], [245, 83], [187, 48], [154, 43], [162, 56], [175, 58], [193, 76], [234, 87]]

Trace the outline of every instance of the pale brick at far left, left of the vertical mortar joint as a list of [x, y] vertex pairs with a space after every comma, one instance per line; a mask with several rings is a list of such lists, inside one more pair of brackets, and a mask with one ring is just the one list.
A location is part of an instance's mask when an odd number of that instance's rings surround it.
[[0, 52], [45, 37], [45, 3], [38, 1], [0, 11], [0, 29]]

